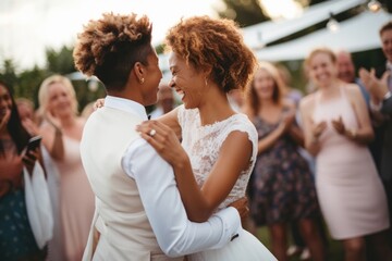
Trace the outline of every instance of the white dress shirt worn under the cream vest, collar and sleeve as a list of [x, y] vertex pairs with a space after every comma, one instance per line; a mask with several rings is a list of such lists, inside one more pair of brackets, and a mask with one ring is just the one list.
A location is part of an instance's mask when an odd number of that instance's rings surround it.
[[[147, 120], [145, 108], [132, 100], [108, 96], [105, 107]], [[221, 248], [240, 234], [240, 215], [232, 207], [213, 214], [207, 222], [191, 222], [172, 166], [145, 139], [136, 139], [128, 146], [122, 167], [135, 179], [152, 231], [166, 254], [179, 257]]]

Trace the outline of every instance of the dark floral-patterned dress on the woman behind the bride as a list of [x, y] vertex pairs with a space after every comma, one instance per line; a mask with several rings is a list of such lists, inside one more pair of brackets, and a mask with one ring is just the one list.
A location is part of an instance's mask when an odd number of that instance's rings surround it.
[[[254, 119], [258, 139], [273, 132], [271, 124]], [[258, 226], [292, 222], [319, 214], [315, 181], [308, 162], [289, 136], [281, 136], [257, 157], [249, 185], [250, 212]]]

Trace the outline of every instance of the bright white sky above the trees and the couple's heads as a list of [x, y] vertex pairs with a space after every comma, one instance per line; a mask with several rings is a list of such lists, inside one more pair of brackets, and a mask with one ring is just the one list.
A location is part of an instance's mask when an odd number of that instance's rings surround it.
[[[262, 0], [273, 17], [301, 12], [293, 0]], [[152, 44], [161, 42], [167, 29], [181, 17], [217, 16], [220, 0], [1, 0], [0, 64], [12, 59], [17, 69], [45, 64], [46, 48], [73, 46], [77, 33], [103, 12], [147, 14], [152, 22]]]

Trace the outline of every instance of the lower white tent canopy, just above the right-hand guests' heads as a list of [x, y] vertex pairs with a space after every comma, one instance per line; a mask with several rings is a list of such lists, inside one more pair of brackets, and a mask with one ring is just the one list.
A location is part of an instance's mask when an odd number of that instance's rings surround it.
[[350, 52], [377, 49], [381, 46], [379, 29], [390, 20], [390, 13], [365, 11], [341, 22], [338, 32], [320, 29], [295, 40], [258, 50], [256, 55], [259, 60], [266, 61], [290, 61], [302, 60], [313, 48], [321, 46], [345, 49]]

